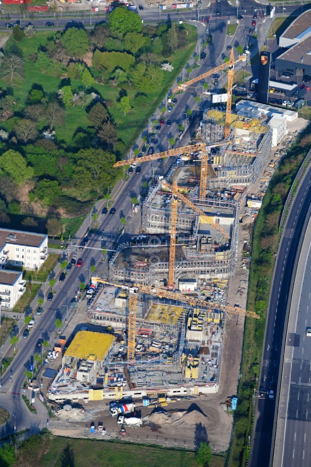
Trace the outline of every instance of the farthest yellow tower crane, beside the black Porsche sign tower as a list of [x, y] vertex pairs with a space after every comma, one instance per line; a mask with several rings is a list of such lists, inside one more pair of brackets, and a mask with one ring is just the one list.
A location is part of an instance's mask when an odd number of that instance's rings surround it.
[[211, 76], [213, 73], [217, 73], [217, 71], [228, 69], [228, 98], [227, 98], [227, 106], [226, 106], [226, 123], [225, 123], [225, 139], [228, 139], [230, 136], [230, 115], [231, 115], [231, 102], [232, 102], [232, 86], [233, 86], [233, 78], [234, 78], [234, 64], [240, 62], [241, 60], [246, 60], [246, 55], [240, 55], [236, 60], [234, 60], [233, 48], [231, 49], [230, 59], [229, 62], [223, 63], [222, 65], [216, 66], [212, 70], [206, 71], [202, 75], [197, 76], [196, 78], [192, 78], [185, 83], [177, 85], [175, 89], [173, 89], [173, 94], [178, 91], [186, 91], [187, 87], [193, 85], [194, 83], [198, 83], [202, 79]]

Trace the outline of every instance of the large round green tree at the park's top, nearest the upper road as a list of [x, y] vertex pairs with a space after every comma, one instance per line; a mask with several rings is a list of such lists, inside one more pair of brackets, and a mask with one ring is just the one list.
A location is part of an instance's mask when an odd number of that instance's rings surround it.
[[115, 8], [108, 17], [108, 26], [117, 37], [123, 37], [129, 32], [141, 33], [141, 18], [134, 11]]

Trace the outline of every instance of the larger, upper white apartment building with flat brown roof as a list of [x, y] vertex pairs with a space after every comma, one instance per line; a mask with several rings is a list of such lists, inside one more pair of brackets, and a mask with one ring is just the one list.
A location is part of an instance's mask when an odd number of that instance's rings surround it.
[[48, 235], [0, 228], [0, 268], [40, 269], [48, 257]]

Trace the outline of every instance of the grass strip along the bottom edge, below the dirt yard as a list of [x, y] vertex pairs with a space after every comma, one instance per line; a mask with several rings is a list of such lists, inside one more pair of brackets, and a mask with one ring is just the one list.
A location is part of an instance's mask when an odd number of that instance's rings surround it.
[[[74, 461], [64, 462], [64, 453], [69, 452], [66, 447], [72, 448]], [[87, 453], [87, 454], [86, 454]], [[87, 461], [86, 461], [87, 460]], [[123, 444], [88, 439], [67, 439], [51, 437], [49, 451], [41, 460], [43, 467], [62, 467], [74, 465], [75, 467], [197, 467], [195, 455], [189, 451], [164, 449], [155, 446], [142, 446], [136, 444]], [[212, 456], [210, 467], [224, 467], [225, 458]]]

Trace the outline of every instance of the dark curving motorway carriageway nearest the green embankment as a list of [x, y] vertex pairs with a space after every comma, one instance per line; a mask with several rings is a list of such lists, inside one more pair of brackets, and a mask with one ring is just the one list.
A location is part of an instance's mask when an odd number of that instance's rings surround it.
[[[288, 290], [290, 288], [291, 273], [295, 262], [301, 229], [311, 202], [310, 177], [311, 168], [309, 168], [302, 184], [299, 186], [292, 203], [277, 258], [259, 383], [260, 386], [264, 387], [266, 392], [269, 390], [270, 382], [273, 383], [274, 389], [277, 387], [280, 351], [283, 340], [284, 319]], [[299, 375], [296, 374], [296, 371], [298, 370], [297, 368], [293, 374], [293, 378], [296, 379], [300, 376], [302, 378], [306, 378], [308, 368], [309, 367], [306, 366], [305, 374], [299, 373]], [[264, 398], [258, 398], [249, 461], [249, 465], [252, 467], [269, 466], [274, 417], [275, 399], [269, 399], [268, 395]]]

